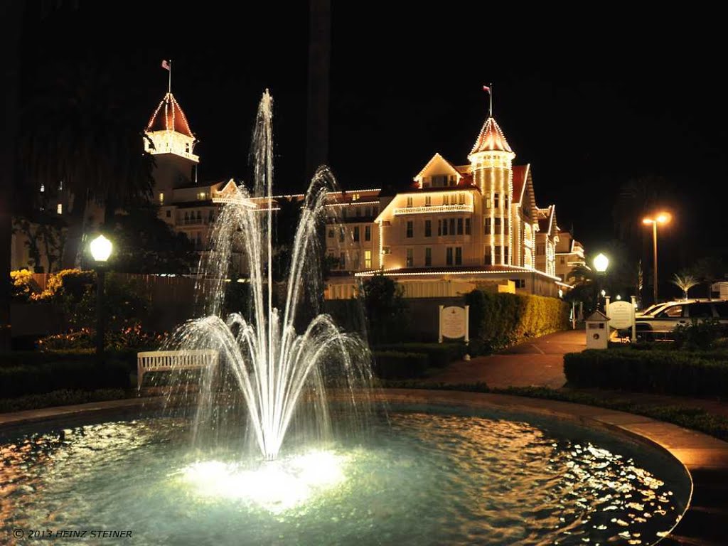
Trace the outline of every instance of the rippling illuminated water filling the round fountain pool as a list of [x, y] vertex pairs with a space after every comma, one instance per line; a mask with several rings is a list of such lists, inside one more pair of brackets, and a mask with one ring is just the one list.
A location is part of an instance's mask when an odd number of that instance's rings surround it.
[[497, 408], [391, 405], [363, 436], [284, 446], [273, 462], [192, 452], [189, 432], [159, 416], [6, 431], [0, 532], [119, 531], [138, 545], [649, 545], [691, 491], [656, 448]]

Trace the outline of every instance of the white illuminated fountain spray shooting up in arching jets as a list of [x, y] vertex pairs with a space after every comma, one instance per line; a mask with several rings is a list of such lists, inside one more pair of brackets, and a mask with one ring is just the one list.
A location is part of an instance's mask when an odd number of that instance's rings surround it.
[[[205, 317], [181, 326], [167, 347], [177, 350], [213, 349], [217, 363], [202, 373], [196, 434], [218, 411], [216, 378], [228, 367], [235, 389], [245, 397], [252, 435], [265, 459], [276, 459], [291, 420], [306, 399], [307, 427], [325, 435], [331, 427], [325, 387], [336, 384], [355, 413], [365, 410], [371, 385], [368, 349], [357, 336], [339, 331], [327, 314], [315, 314], [296, 331], [298, 312], [317, 309], [320, 282], [320, 228], [333, 176], [320, 167], [306, 191], [293, 240], [290, 272], [281, 293], [282, 308], [274, 307], [272, 199], [272, 98], [264, 92], [258, 107], [250, 159], [252, 192], [238, 188], [240, 197], [220, 211], [210, 238], [210, 250], [200, 261], [197, 295]], [[249, 274], [250, 311], [233, 312], [223, 320], [226, 279], [233, 252], [242, 251]], [[284, 292], [281, 290], [281, 292]], [[307, 315], [308, 316], [308, 315]], [[300, 326], [300, 325], [299, 325]], [[301, 412], [303, 413], [303, 412]]]

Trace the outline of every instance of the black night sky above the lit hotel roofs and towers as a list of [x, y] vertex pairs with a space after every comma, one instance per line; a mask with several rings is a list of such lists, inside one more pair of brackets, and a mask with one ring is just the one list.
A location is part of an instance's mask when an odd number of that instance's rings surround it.
[[[531, 163], [539, 205], [555, 202], [561, 226], [573, 223], [587, 248], [613, 236], [620, 184], [646, 174], [677, 187], [666, 249], [726, 246], [723, 44], [709, 17], [616, 4], [588, 14], [333, 4], [330, 163], [344, 188], [408, 186], [435, 151], [466, 163], [486, 116], [481, 87], [493, 82], [496, 119], [516, 162]], [[172, 58], [204, 180], [246, 175], [256, 103], [269, 87], [277, 188], [303, 191], [306, 2], [238, 3], [236, 12], [215, 2], [81, 5], [43, 23], [64, 29], [63, 45], [41, 26], [33, 51], [102, 54], [123, 76], [140, 128], [165, 92], [159, 63]]]

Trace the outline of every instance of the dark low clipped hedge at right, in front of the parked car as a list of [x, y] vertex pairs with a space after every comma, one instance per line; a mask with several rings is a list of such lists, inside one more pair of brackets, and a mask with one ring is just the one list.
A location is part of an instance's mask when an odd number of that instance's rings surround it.
[[728, 360], [720, 352], [590, 349], [564, 355], [563, 372], [572, 387], [728, 395]]

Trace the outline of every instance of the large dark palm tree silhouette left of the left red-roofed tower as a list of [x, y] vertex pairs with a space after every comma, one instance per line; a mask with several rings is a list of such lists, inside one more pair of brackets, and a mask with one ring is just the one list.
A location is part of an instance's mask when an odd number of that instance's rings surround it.
[[[111, 82], [106, 63], [56, 61], [23, 106], [19, 159], [27, 188], [55, 191], [60, 181], [73, 196], [66, 221], [63, 266], [79, 264], [89, 205], [106, 210], [151, 193], [152, 159], [143, 151], [138, 120], [124, 105], [124, 88]], [[108, 70], [108, 69], [106, 69]]]

